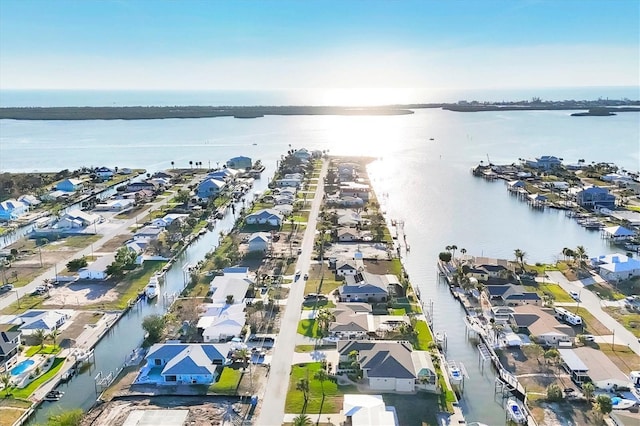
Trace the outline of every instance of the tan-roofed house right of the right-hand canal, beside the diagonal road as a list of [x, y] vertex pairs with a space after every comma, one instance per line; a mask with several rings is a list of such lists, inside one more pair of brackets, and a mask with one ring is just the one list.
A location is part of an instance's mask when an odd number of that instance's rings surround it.
[[559, 322], [553, 309], [521, 305], [513, 310], [509, 322], [516, 333], [527, 334], [531, 340], [545, 346], [573, 344], [575, 331], [570, 325]]

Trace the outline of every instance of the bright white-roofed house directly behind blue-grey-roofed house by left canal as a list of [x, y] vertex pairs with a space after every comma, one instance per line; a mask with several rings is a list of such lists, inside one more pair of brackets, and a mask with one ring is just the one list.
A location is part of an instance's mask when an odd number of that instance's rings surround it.
[[197, 328], [205, 342], [225, 342], [242, 334], [246, 322], [244, 305], [209, 303], [198, 320]]

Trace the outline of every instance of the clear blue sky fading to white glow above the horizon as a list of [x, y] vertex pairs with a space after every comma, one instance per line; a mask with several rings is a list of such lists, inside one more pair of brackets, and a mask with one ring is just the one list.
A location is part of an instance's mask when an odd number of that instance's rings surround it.
[[640, 85], [637, 0], [0, 1], [1, 89]]

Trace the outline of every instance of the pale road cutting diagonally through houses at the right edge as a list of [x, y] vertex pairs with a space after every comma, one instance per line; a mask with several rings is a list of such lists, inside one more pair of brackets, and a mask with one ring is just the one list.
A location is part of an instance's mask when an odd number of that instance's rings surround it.
[[640, 342], [638, 342], [638, 338], [629, 330], [624, 328], [622, 324], [613, 319], [608, 313], [602, 310], [602, 300], [591, 292], [589, 287], [585, 287], [581, 281], [567, 280], [560, 271], [547, 271], [547, 277], [549, 277], [551, 281], [558, 283], [566, 292], [578, 292], [580, 295], [580, 306], [588, 309], [598, 321], [600, 321], [609, 330], [613, 331], [612, 334], [609, 335], [610, 337], [606, 336], [606, 341], [608, 343], [613, 341], [616, 345], [626, 345], [635, 353], [640, 355]]

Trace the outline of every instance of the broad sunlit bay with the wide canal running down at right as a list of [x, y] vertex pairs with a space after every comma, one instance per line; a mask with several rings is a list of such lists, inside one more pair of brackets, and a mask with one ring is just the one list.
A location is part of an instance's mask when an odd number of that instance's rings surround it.
[[[106, 165], [155, 171], [171, 167], [172, 161], [176, 167], [189, 167], [189, 161], [216, 166], [230, 157], [247, 155], [267, 165], [266, 178], [290, 147], [375, 158], [370, 175], [384, 209], [389, 218], [405, 222], [411, 245], [405, 264], [411, 280], [420, 287], [423, 300], [434, 301], [434, 328], [447, 331], [448, 356], [463, 362], [469, 371], [462, 401], [467, 420], [501, 424], [504, 411], [493, 398], [493, 376], [487, 371], [490, 369], [480, 372], [477, 351], [464, 338], [464, 311], [446, 286], [438, 284], [435, 260], [438, 252], [451, 244], [466, 248], [471, 255], [509, 259], [519, 248], [527, 253], [529, 262], [552, 262], [563, 247], [577, 245], [583, 245], [592, 256], [611, 251], [598, 232], [584, 230], [562, 212], [532, 210], [509, 196], [502, 182], [486, 182], [470, 173], [481, 160], [512, 163], [540, 155], [640, 169], [639, 114], [570, 117], [569, 113], [434, 109], [384, 117], [2, 120], [0, 170], [53, 171]], [[197, 255], [189, 255], [192, 258], [185, 263], [197, 262], [212, 247], [207, 241], [207, 246], [197, 248]], [[135, 315], [125, 323], [127, 327], [139, 322]], [[124, 328], [117, 327], [112, 333], [117, 336]], [[123, 348], [123, 354], [109, 361], [119, 365], [141, 335], [136, 331], [134, 338], [118, 339], [131, 347]], [[103, 352], [109, 356], [106, 347]], [[100, 346], [96, 353], [101, 353]], [[90, 401], [82, 406], [87, 408]]]

